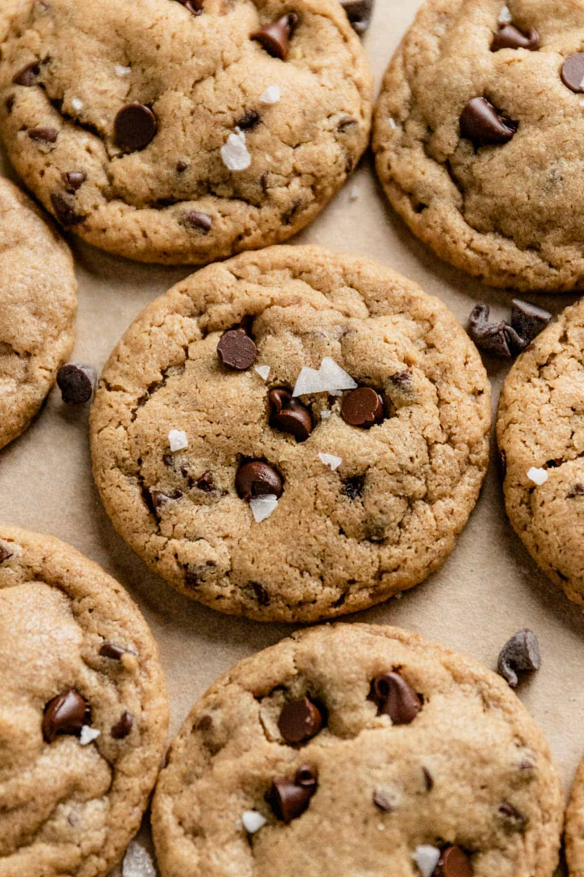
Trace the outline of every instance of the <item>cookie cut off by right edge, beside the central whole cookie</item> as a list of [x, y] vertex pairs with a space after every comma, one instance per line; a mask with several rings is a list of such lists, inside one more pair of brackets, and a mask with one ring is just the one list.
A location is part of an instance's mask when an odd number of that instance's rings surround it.
[[584, 606], [584, 299], [511, 368], [497, 439], [511, 524], [539, 567]]

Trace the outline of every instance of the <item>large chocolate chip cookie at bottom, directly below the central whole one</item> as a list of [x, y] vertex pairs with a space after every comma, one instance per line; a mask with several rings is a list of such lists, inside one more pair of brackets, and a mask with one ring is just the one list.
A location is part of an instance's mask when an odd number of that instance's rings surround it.
[[408, 631], [336, 624], [209, 688], [152, 828], [163, 877], [551, 877], [562, 811], [506, 682]]

